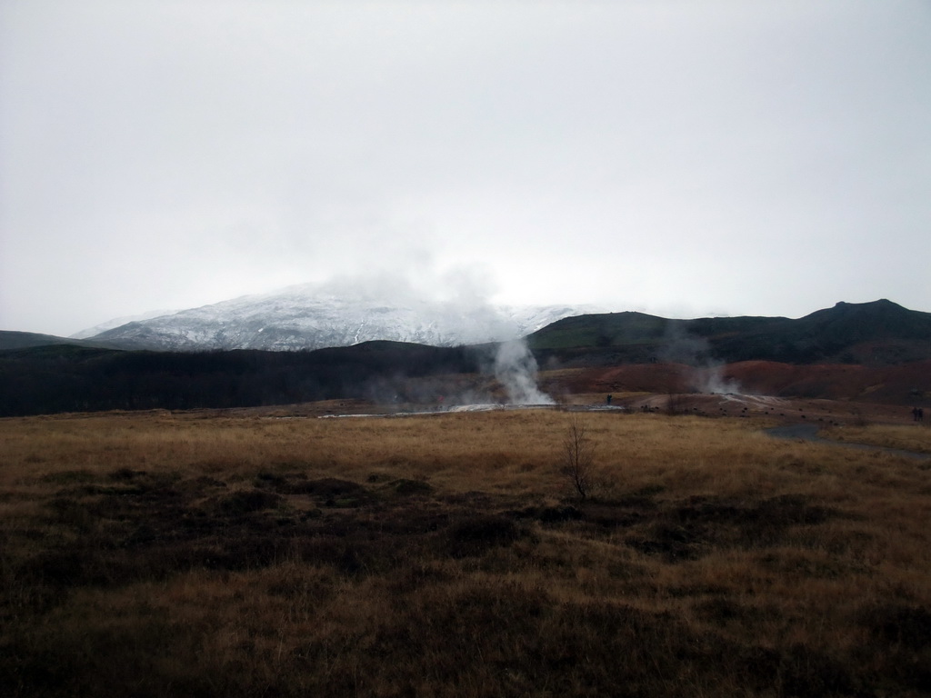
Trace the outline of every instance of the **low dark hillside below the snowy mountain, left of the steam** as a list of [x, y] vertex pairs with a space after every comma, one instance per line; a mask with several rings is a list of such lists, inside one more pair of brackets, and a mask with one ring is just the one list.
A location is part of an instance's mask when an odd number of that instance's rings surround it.
[[367, 342], [316, 352], [121, 352], [70, 345], [0, 352], [0, 416], [407, 401], [410, 378], [476, 370], [479, 352]]

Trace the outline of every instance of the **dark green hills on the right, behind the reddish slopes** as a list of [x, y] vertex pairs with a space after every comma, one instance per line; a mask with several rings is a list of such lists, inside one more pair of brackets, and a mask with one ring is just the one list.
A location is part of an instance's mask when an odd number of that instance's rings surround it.
[[839, 302], [799, 319], [581, 315], [533, 332], [528, 342], [538, 359], [575, 366], [749, 360], [885, 366], [931, 358], [931, 313], [881, 300]]

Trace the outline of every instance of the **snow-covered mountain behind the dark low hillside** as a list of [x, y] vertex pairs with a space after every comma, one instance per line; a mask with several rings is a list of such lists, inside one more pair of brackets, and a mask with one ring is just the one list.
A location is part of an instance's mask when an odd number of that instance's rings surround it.
[[320, 349], [370, 340], [454, 346], [514, 339], [563, 317], [598, 312], [588, 305], [492, 306], [301, 285], [128, 322], [90, 339], [172, 351]]

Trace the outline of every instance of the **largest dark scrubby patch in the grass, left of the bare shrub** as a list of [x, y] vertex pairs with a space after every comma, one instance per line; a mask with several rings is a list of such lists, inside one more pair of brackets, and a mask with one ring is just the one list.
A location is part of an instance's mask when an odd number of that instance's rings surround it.
[[[518, 517], [491, 513], [491, 495], [431, 501], [433, 488], [421, 480], [399, 478], [370, 490], [339, 478], [262, 472], [252, 484], [233, 490], [212, 477], [178, 481], [128, 470], [79, 482], [50, 501], [47, 516], [80, 544], [47, 548], [22, 571], [30, 584], [58, 590], [196, 569], [257, 569], [284, 559], [358, 576], [395, 569], [412, 555], [480, 557], [528, 535]], [[308, 497], [317, 505], [307, 508]], [[479, 501], [491, 512], [476, 514]], [[556, 522], [578, 516], [573, 511], [539, 514]]]

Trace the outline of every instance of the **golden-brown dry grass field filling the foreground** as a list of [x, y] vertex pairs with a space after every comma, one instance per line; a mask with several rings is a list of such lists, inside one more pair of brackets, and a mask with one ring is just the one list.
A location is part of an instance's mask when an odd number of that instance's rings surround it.
[[928, 695], [931, 461], [766, 424], [0, 420], [0, 692]]

